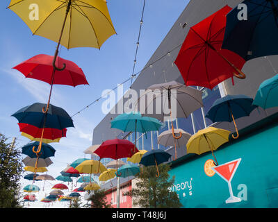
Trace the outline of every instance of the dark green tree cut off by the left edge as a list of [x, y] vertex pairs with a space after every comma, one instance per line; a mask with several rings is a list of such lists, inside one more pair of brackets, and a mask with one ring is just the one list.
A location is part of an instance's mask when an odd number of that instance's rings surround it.
[[22, 207], [19, 202], [19, 179], [22, 173], [21, 152], [15, 143], [0, 133], [0, 208]]

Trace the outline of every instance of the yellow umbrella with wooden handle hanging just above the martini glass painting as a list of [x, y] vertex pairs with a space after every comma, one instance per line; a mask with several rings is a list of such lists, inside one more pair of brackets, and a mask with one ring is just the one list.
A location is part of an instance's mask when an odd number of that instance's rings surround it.
[[[203, 130], [199, 130], [195, 135], [190, 137], [186, 144], [188, 153], [197, 153], [198, 155], [211, 151], [216, 151], [222, 144], [229, 142], [229, 130], [218, 129], [214, 127], [208, 127]], [[218, 161], [215, 158], [215, 166], [218, 166]]]

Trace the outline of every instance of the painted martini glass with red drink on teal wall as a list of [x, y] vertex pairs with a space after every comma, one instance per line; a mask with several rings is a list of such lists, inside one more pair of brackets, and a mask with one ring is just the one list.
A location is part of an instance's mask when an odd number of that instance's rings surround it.
[[241, 199], [234, 196], [233, 189], [231, 189], [231, 179], [234, 177], [234, 173], [236, 173], [236, 169], [238, 169], [238, 165], [241, 161], [241, 158], [237, 160], [232, 160], [231, 162], [227, 162], [225, 164], [218, 165], [218, 167], [211, 167], [215, 173], [217, 173], [222, 179], [224, 179], [228, 183], [230, 197], [227, 198], [226, 203], [236, 203], [240, 202]]

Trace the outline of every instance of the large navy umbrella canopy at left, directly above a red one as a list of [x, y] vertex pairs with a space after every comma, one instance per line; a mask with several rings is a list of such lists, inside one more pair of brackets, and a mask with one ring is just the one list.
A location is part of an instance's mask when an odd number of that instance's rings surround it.
[[38, 128], [55, 128], [63, 130], [67, 127], [74, 127], [70, 115], [62, 108], [51, 104], [49, 105], [47, 119], [44, 125], [45, 114], [42, 112], [42, 109], [46, 107], [47, 104], [44, 103], [33, 103], [32, 105], [27, 105], [18, 110], [12, 116], [15, 117], [19, 123], [28, 123]]

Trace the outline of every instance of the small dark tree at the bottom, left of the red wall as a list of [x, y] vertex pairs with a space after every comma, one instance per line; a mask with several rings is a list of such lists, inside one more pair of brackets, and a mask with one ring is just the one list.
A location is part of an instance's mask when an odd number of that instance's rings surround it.
[[84, 207], [92, 208], [111, 208], [111, 204], [106, 202], [106, 192], [104, 189], [98, 189], [92, 192], [88, 201], [90, 204], [84, 205]]

